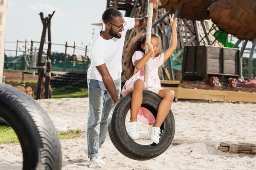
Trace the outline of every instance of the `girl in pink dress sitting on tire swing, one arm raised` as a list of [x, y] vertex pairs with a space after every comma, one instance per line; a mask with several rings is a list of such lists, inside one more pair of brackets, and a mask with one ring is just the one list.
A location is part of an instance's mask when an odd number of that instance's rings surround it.
[[[138, 119], [151, 125], [148, 128], [150, 139], [154, 143], [158, 144], [161, 133], [160, 126], [162, 125], [172, 106], [174, 91], [161, 88], [159, 79], [160, 66], [172, 55], [177, 45], [177, 19], [173, 19], [174, 14], [172, 16], [169, 15], [169, 17], [172, 24], [172, 40], [170, 47], [164, 53], [159, 51], [158, 36], [152, 34], [151, 43], [149, 44], [146, 42], [148, 45], [148, 53], [145, 54], [146, 34], [138, 34], [131, 40], [128, 52], [125, 56], [127, 61], [128, 76], [131, 76], [132, 74], [133, 75], [125, 82], [125, 85], [122, 89], [122, 95], [125, 96], [126, 94], [133, 92], [131, 97], [131, 119], [129, 122], [129, 136], [133, 140], [139, 139], [140, 136], [137, 125], [137, 116], [139, 112]], [[155, 122], [154, 116], [149, 113], [147, 109], [140, 107], [143, 100], [142, 93], [145, 88], [145, 82], [143, 82], [144, 65], [148, 60], [148, 90], [153, 91], [162, 98], [162, 101], [158, 107], [157, 118]]]

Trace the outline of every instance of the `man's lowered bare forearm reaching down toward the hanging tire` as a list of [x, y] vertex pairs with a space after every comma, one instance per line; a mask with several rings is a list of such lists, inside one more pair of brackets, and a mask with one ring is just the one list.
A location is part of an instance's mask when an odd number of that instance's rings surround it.
[[116, 92], [116, 85], [108, 72], [106, 64], [104, 63], [102, 65], [96, 66], [96, 68], [102, 76], [102, 81], [106, 90], [108, 91], [108, 94], [111, 96], [111, 99], [114, 101], [114, 103], [116, 103], [119, 100]]

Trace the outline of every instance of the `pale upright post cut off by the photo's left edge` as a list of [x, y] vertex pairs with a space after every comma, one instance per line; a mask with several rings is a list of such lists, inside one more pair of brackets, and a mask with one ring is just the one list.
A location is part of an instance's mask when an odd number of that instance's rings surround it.
[[6, 37], [6, 21], [7, 21], [8, 0], [0, 1], [0, 84], [3, 82], [3, 62]]

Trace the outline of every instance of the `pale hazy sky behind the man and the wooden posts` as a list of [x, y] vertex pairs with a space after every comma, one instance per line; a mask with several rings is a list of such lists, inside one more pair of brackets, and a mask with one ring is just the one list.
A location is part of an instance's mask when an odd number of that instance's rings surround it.
[[[44, 17], [55, 14], [51, 22], [52, 43], [67, 44], [76, 42], [77, 46], [89, 45], [94, 33], [100, 31], [100, 26], [92, 23], [102, 23], [102, 13], [107, 6], [107, 0], [9, 0], [6, 26], [6, 42], [8, 41], [38, 41], [41, 40], [43, 24], [40, 12]], [[125, 11], [121, 11], [125, 14]], [[18, 46], [25, 46], [19, 43]], [[33, 44], [39, 48], [39, 43]], [[47, 44], [44, 45], [47, 49]], [[6, 43], [6, 49], [16, 50], [16, 43]], [[19, 49], [19, 48], [18, 48]], [[25, 48], [23, 48], [24, 50]], [[47, 51], [47, 50], [45, 50]], [[52, 45], [52, 52], [65, 52], [65, 46]], [[6, 51], [6, 55], [15, 55], [15, 52]], [[73, 54], [73, 48], [67, 48], [68, 54]], [[76, 54], [84, 55], [84, 51], [76, 50]], [[22, 54], [18, 52], [17, 55]]]

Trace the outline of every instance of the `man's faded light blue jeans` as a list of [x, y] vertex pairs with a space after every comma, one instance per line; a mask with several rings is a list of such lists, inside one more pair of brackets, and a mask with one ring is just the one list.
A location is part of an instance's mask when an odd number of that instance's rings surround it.
[[[87, 122], [88, 158], [99, 157], [99, 148], [108, 133], [108, 115], [113, 100], [102, 81], [87, 78], [89, 91], [89, 113]], [[121, 92], [121, 78], [114, 81], [118, 97]]]

